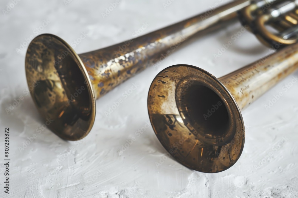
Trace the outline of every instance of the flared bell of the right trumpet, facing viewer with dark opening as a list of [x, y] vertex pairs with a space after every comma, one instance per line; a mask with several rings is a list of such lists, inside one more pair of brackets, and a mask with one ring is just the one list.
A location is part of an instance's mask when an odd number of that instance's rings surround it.
[[[209, 91], [195, 94], [200, 90]], [[209, 96], [205, 97], [207, 94]], [[204, 127], [214, 127], [202, 123], [205, 120], [201, 110], [194, 109], [194, 113], [189, 113], [192, 108], [202, 106], [207, 110], [212, 107], [213, 98], [220, 99], [224, 104], [221, 108], [226, 108], [216, 110], [219, 115], [229, 118], [227, 124], [217, 128], [225, 127], [222, 134], [204, 130]], [[199, 104], [186, 104], [190, 99]], [[148, 93], [148, 113], [167, 154], [190, 169], [206, 173], [224, 171], [235, 164], [243, 151], [244, 123], [235, 99], [216, 77], [201, 68], [173, 65], [156, 75]]]

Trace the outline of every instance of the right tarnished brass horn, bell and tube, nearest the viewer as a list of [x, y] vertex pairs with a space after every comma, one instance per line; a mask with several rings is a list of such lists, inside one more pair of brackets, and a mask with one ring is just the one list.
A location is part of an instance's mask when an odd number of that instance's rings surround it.
[[221, 172], [239, 159], [240, 110], [298, 69], [298, 44], [219, 79], [195, 66], [170, 66], [154, 78], [148, 113], [164, 148], [193, 170]]

